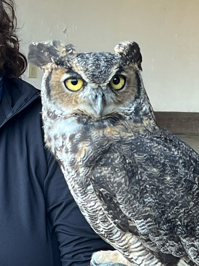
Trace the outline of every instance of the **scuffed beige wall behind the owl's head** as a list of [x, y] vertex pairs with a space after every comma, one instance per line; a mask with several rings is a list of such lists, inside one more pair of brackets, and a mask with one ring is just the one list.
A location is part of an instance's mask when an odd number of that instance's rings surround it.
[[[199, 112], [198, 0], [15, 1], [26, 55], [33, 41], [61, 39], [80, 52], [136, 41], [154, 110]], [[41, 77], [26, 81], [39, 88]]]

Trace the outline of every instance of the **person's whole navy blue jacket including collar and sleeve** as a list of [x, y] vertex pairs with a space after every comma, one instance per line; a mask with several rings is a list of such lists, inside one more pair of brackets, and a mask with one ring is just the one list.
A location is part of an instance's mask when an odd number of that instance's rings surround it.
[[90, 228], [44, 148], [40, 113], [40, 91], [20, 79], [3, 79], [0, 265], [89, 265], [94, 251], [110, 246]]

